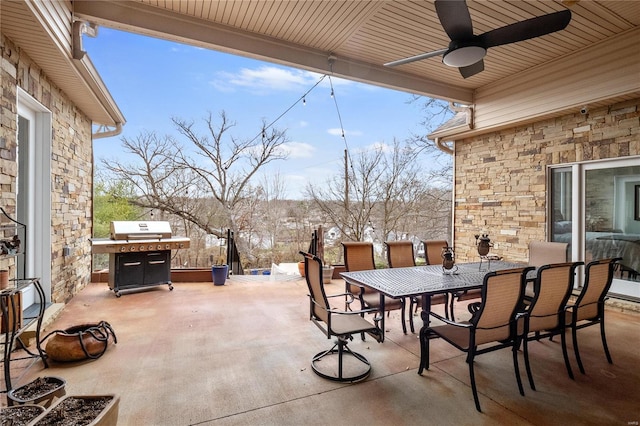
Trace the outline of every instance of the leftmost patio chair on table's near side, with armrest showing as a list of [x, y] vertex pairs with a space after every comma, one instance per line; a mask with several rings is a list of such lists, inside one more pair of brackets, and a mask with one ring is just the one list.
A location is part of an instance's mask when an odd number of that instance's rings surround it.
[[487, 273], [481, 288], [480, 306], [468, 322], [454, 322], [431, 312], [431, 316], [444, 322], [444, 325], [431, 327], [426, 333], [421, 333], [420, 346], [426, 351], [427, 368], [429, 334], [441, 337], [467, 354], [471, 390], [478, 411], [482, 411], [474, 373], [474, 361], [478, 355], [511, 348], [518, 390], [520, 395], [524, 395], [518, 368], [520, 337], [516, 327], [516, 315], [524, 295], [526, 274], [531, 269], [533, 268], [517, 268]]

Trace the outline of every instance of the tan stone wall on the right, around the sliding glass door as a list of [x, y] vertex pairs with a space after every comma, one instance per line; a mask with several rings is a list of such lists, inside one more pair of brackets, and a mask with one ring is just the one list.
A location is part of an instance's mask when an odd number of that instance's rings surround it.
[[526, 261], [547, 239], [547, 166], [640, 155], [640, 99], [506, 129], [455, 144], [454, 247], [478, 261], [485, 228], [493, 253]]

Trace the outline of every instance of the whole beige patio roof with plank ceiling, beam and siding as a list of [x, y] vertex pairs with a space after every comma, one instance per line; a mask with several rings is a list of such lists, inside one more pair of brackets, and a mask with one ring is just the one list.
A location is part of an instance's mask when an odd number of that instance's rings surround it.
[[559, 32], [498, 46], [464, 79], [430, 58], [384, 63], [446, 47], [433, 1], [76, 1], [101, 26], [271, 61], [473, 107], [449, 140], [640, 96], [640, 2], [466, 0], [476, 34], [571, 10]]

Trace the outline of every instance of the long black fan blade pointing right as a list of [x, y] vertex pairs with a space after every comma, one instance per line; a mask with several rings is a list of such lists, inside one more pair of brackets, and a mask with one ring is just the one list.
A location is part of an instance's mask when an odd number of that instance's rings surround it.
[[571, 11], [563, 10], [487, 31], [479, 35], [478, 40], [487, 49], [563, 30], [570, 21]]

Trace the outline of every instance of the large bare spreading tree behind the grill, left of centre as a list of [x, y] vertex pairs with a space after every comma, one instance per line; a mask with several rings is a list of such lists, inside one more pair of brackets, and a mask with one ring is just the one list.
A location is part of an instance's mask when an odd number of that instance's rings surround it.
[[139, 194], [133, 202], [140, 207], [175, 215], [206, 234], [220, 236], [223, 228], [236, 229], [255, 174], [286, 158], [281, 149], [287, 142], [285, 131], [263, 122], [258, 137], [240, 140], [230, 135], [235, 123], [224, 111], [219, 123], [211, 113], [204, 118], [203, 134], [193, 121], [172, 121], [183, 143], [152, 132], [122, 138], [125, 152], [136, 161], [103, 159], [102, 166], [114, 179], [131, 182]]

